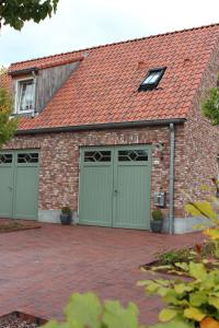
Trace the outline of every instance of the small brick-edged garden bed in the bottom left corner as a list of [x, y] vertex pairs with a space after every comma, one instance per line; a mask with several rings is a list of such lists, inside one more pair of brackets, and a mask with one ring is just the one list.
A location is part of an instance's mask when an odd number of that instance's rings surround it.
[[35, 317], [21, 312], [12, 312], [0, 317], [0, 328], [37, 328], [45, 325], [45, 318]]

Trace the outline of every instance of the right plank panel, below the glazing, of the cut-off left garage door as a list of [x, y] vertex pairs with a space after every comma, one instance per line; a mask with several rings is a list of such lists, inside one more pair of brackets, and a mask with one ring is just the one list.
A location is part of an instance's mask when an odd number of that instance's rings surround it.
[[37, 218], [38, 167], [18, 166], [14, 218]]

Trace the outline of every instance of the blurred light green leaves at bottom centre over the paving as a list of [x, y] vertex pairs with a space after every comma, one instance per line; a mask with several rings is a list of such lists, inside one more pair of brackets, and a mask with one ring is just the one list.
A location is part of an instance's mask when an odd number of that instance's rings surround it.
[[74, 293], [65, 308], [65, 323], [51, 320], [44, 328], [143, 328], [134, 303], [123, 307], [118, 301], [104, 304], [93, 293]]

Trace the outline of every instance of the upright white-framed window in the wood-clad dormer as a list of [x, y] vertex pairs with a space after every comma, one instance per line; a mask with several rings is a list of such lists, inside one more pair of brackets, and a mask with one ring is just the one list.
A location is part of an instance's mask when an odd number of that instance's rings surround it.
[[32, 110], [34, 108], [34, 81], [20, 82], [20, 106], [19, 110]]

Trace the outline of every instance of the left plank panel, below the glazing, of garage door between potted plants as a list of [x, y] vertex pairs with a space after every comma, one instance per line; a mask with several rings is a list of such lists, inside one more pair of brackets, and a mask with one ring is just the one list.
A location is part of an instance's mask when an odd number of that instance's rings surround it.
[[111, 166], [83, 167], [80, 184], [80, 223], [112, 225], [112, 177]]

